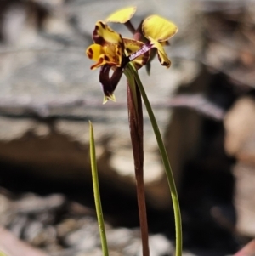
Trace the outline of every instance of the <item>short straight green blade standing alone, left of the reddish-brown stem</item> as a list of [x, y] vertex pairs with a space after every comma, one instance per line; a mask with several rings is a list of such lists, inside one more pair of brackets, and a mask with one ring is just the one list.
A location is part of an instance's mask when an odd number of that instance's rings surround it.
[[99, 223], [99, 233], [102, 244], [102, 251], [104, 256], [108, 256], [108, 246], [105, 234], [105, 223], [103, 217], [103, 211], [101, 207], [100, 192], [99, 192], [99, 177], [98, 177], [98, 168], [96, 162], [96, 153], [94, 145], [94, 128], [92, 123], [89, 121], [89, 134], [90, 134], [90, 162], [92, 170], [92, 179], [93, 179], [93, 189], [94, 189], [94, 202], [97, 212], [97, 218]]

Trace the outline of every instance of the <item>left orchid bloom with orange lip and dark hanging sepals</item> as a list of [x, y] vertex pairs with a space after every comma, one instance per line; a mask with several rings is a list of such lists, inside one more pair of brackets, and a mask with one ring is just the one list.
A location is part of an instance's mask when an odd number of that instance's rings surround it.
[[[137, 52], [139, 48], [144, 46], [144, 43], [122, 38], [120, 34], [113, 31], [103, 21], [96, 23], [93, 39], [94, 44], [90, 45], [86, 50], [88, 58], [96, 61], [91, 66], [91, 69], [94, 70], [101, 67], [99, 82], [101, 82], [105, 94], [104, 103], [107, 100], [116, 101], [113, 92], [122, 77], [123, 68], [127, 65], [127, 62], [133, 61], [133, 65], [135, 65], [136, 69], [139, 69], [149, 60], [150, 53], [137, 54], [133, 60], [129, 60], [126, 54]], [[110, 77], [111, 69], [113, 74]]]

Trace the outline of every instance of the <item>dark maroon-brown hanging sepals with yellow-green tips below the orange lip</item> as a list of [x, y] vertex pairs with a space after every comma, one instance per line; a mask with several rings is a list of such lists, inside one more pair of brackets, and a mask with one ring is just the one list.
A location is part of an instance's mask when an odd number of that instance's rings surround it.
[[117, 67], [111, 77], [110, 77], [110, 71], [111, 71], [111, 65], [103, 65], [101, 67], [100, 75], [99, 75], [99, 82], [101, 83], [103, 92], [105, 94], [104, 102], [103, 102], [104, 104], [107, 102], [107, 100], [116, 101], [113, 93], [116, 89], [118, 82], [122, 78], [121, 67]]

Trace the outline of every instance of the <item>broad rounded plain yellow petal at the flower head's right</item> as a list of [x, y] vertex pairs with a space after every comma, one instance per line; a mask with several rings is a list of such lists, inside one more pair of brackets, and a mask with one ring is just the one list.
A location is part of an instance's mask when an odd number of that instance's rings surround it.
[[148, 39], [151, 37], [158, 42], [163, 42], [173, 37], [178, 31], [178, 28], [173, 22], [160, 16], [152, 15], [144, 20], [142, 30], [144, 36]]

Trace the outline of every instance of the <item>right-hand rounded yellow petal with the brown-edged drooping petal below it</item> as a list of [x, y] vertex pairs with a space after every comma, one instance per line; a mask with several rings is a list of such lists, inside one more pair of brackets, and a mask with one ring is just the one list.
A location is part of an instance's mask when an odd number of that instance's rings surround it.
[[150, 41], [150, 48], [156, 48], [161, 65], [169, 68], [171, 60], [169, 60], [162, 44], [165, 44], [170, 37], [177, 33], [177, 26], [158, 15], [151, 15], [144, 20], [142, 31], [144, 37]]

